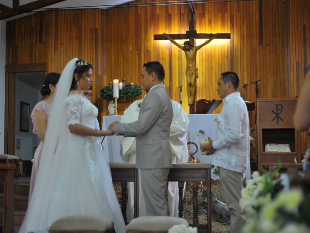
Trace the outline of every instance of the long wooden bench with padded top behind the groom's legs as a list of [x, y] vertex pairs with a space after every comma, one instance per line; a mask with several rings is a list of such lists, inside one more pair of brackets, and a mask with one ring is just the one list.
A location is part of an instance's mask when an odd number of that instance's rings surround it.
[[[122, 214], [127, 223], [126, 217], [126, 191], [127, 182], [135, 183], [135, 204], [134, 217], [139, 216], [139, 182], [138, 169], [133, 163], [109, 163], [112, 181], [120, 182], [122, 187]], [[199, 232], [211, 233], [211, 169], [214, 166], [211, 164], [173, 164], [168, 175], [168, 182], [178, 182], [179, 186], [179, 217], [184, 217], [183, 214], [183, 192], [184, 182], [193, 183], [193, 226], [198, 228]], [[198, 188], [199, 182], [207, 184], [207, 224], [199, 224], [198, 220]], [[210, 200], [210, 201], [209, 201]], [[210, 204], [209, 204], [210, 203]]]

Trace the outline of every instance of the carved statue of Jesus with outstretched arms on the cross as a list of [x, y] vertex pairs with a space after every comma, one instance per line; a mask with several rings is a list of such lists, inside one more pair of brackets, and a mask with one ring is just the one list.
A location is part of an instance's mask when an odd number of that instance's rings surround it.
[[213, 34], [213, 36], [206, 40], [203, 44], [199, 46], [193, 46], [189, 41], [184, 42], [184, 46], [176, 43], [168, 34], [164, 33], [164, 37], [171, 41], [172, 44], [179, 47], [181, 50], [185, 51], [186, 56], [186, 83], [187, 83], [187, 95], [188, 104], [193, 104], [195, 100], [195, 82], [198, 78], [198, 68], [196, 67], [196, 54], [197, 50], [200, 50], [203, 46], [209, 44], [213, 39], [217, 38], [219, 33]]

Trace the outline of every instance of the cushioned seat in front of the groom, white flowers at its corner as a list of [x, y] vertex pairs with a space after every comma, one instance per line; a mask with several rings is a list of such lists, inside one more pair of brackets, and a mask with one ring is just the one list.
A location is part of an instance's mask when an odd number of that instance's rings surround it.
[[170, 216], [143, 216], [130, 221], [127, 233], [167, 233], [174, 225], [183, 224], [188, 227], [186, 219]]

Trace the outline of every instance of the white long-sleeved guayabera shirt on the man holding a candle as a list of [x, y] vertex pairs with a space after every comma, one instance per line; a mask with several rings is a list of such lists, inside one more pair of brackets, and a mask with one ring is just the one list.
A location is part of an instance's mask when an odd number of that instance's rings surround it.
[[239, 92], [223, 99], [212, 146], [216, 149], [213, 165], [241, 173], [246, 171], [250, 148], [248, 110]]

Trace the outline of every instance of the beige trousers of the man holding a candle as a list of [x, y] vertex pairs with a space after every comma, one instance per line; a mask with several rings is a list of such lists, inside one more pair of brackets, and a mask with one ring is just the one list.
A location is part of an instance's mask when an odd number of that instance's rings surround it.
[[230, 233], [241, 233], [246, 223], [241, 216], [239, 200], [241, 199], [242, 173], [219, 168], [219, 179], [223, 190], [224, 200], [231, 216]]

